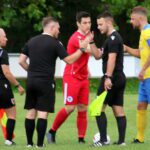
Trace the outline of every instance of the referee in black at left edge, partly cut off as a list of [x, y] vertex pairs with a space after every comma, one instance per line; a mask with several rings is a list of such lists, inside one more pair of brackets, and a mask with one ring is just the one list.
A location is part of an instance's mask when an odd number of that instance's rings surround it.
[[0, 109], [3, 108], [7, 115], [5, 145], [15, 145], [12, 141], [16, 124], [16, 104], [11, 84], [15, 86], [19, 94], [24, 93], [23, 87], [11, 73], [9, 58], [4, 47], [7, 44], [7, 36], [3, 28], [0, 28]]

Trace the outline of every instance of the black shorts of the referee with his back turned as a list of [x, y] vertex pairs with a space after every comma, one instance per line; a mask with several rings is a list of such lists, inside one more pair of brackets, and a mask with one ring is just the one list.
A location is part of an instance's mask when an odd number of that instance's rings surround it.
[[25, 109], [54, 112], [55, 82], [41, 78], [28, 78]]

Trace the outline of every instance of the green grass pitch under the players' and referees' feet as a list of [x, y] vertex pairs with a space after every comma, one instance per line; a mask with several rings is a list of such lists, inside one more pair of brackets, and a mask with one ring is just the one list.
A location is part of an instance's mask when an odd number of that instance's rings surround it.
[[[17, 124], [15, 128], [15, 142], [17, 143], [14, 147], [6, 147], [4, 146], [4, 139], [2, 137], [2, 133], [0, 130], [0, 150], [7, 150], [7, 149], [27, 149], [26, 145], [26, 137], [25, 137], [25, 130], [24, 130], [24, 117], [26, 111], [23, 109], [24, 105], [24, 96], [19, 96], [15, 93], [16, 103], [17, 103]], [[90, 94], [90, 100], [93, 100], [95, 97], [95, 93]], [[127, 146], [125, 147], [118, 147], [118, 146], [106, 146], [103, 147], [104, 150], [116, 150], [116, 149], [123, 149], [123, 150], [148, 150], [150, 147], [150, 128], [147, 128], [145, 134], [145, 144], [135, 145], [131, 144], [131, 140], [134, 138], [136, 134], [136, 104], [137, 104], [137, 95], [135, 94], [126, 94], [125, 95], [125, 112], [127, 116], [127, 132], [126, 132], [126, 143]], [[56, 112], [63, 106], [63, 96], [62, 93], [57, 92], [56, 94]], [[111, 138], [111, 143], [116, 141], [118, 138], [118, 132], [116, 128], [116, 121], [114, 116], [112, 115], [111, 108], [108, 107], [106, 111], [108, 117], [108, 134]], [[56, 113], [49, 114], [48, 117], [48, 128], [51, 127], [51, 124], [54, 120]], [[149, 119], [150, 123], [150, 119]], [[95, 149], [89, 147], [92, 144], [93, 135], [97, 132], [97, 126], [95, 123], [94, 118], [88, 118], [88, 128], [86, 134], [86, 144], [80, 145], [77, 142], [77, 129], [76, 129], [76, 112], [71, 114], [68, 120], [61, 126], [61, 128], [57, 132], [57, 144], [56, 145], [48, 145], [45, 139], [46, 148], [51, 150], [88, 150], [88, 149]], [[34, 143], [36, 143], [36, 132], [34, 136]], [[97, 148], [96, 148], [97, 149]]]

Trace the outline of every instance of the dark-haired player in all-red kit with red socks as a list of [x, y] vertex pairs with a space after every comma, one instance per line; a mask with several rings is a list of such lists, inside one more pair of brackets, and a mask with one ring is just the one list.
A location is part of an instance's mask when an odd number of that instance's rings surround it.
[[[68, 54], [74, 53], [79, 49], [79, 42], [89, 40], [89, 46], [76, 62], [71, 65], [66, 65], [63, 75], [63, 92], [64, 104], [63, 107], [56, 115], [54, 123], [47, 133], [48, 143], [55, 143], [55, 135], [58, 128], [64, 123], [67, 117], [77, 107], [77, 128], [78, 128], [78, 141], [85, 143], [84, 137], [87, 128], [87, 106], [89, 99], [89, 81], [88, 81], [88, 60], [89, 53], [91, 52], [96, 59], [101, 55], [100, 51], [96, 48], [91, 38], [91, 18], [87, 12], [78, 12], [76, 15], [78, 30], [73, 33], [68, 41], [67, 52]], [[90, 36], [89, 36], [90, 33]], [[82, 50], [82, 49], [81, 49]], [[83, 49], [84, 51], [84, 49]]]

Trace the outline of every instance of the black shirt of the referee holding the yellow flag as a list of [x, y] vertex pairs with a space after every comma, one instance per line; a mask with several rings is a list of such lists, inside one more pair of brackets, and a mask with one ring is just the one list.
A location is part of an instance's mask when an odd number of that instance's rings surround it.
[[112, 32], [112, 34], [107, 37], [102, 47], [102, 51], [103, 73], [105, 74], [107, 70], [109, 53], [117, 53], [116, 65], [113, 74], [123, 72], [123, 40], [117, 31]]

